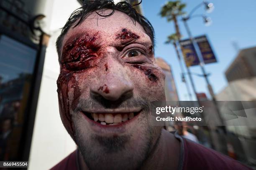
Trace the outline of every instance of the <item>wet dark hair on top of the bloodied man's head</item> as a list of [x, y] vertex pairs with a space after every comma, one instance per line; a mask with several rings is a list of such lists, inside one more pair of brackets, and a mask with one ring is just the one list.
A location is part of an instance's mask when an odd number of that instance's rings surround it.
[[154, 47], [154, 28], [153, 28], [153, 26], [143, 15], [137, 13], [136, 10], [133, 8], [133, 6], [139, 5], [142, 2], [142, 0], [140, 2], [138, 2], [138, 4], [135, 4], [135, 5], [131, 5], [129, 2], [126, 2], [126, 1], [118, 2], [117, 4], [115, 4], [113, 2], [113, 0], [81, 0], [81, 2], [83, 4], [83, 6], [79, 7], [77, 10], [75, 10], [71, 14], [69, 19], [67, 20], [67, 23], [62, 28], [61, 35], [59, 35], [59, 37], [57, 38], [56, 47], [57, 47], [57, 52], [59, 54], [59, 57], [61, 55], [61, 53], [60, 53], [61, 52], [61, 49], [60, 49], [61, 44], [62, 44], [64, 36], [67, 34], [68, 30], [77, 21], [78, 22], [72, 28], [75, 28], [77, 25], [81, 24], [93, 11], [96, 11], [96, 10], [100, 10], [100, 11], [107, 10], [107, 9], [112, 10], [111, 13], [106, 14], [106, 15], [101, 15], [96, 12], [98, 15], [100, 15], [101, 17], [105, 17], [105, 18], [113, 15], [115, 10], [125, 13], [126, 15], [128, 15], [129, 17], [131, 17], [133, 19], [133, 23], [135, 25], [137, 22], [144, 28], [146, 34], [150, 37], [150, 39], [152, 41], [152, 45]]

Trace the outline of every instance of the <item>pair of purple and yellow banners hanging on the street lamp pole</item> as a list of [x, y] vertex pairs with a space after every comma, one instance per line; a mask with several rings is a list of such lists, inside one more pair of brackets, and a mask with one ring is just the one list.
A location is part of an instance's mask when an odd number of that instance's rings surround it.
[[[205, 64], [217, 62], [212, 47], [210, 46], [210, 43], [207, 40], [206, 35], [195, 37], [195, 41], [197, 42], [197, 45], [200, 49]], [[180, 45], [187, 67], [199, 65], [200, 61], [191, 40], [182, 40], [180, 41]]]

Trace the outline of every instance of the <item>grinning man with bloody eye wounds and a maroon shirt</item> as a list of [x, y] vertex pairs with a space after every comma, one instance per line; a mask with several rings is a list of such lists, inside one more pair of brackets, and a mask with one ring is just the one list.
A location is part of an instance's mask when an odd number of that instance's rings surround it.
[[127, 2], [84, 1], [56, 46], [60, 116], [78, 150], [53, 170], [246, 169], [151, 124], [149, 105], [165, 100], [165, 77], [154, 29]]

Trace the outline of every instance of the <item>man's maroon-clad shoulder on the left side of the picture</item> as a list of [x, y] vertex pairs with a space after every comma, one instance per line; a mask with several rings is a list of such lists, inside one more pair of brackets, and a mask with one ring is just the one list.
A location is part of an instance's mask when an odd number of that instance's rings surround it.
[[76, 153], [77, 153], [77, 150], [74, 150], [74, 152], [69, 154], [66, 158], [61, 160], [58, 164], [56, 164], [50, 170], [77, 170]]

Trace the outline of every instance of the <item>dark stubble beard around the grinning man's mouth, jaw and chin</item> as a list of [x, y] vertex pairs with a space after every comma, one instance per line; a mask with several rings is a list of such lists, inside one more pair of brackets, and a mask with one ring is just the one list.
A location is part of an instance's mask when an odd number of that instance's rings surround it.
[[81, 117], [73, 116], [75, 142], [84, 162], [91, 170], [135, 170], [140, 169], [158, 144], [161, 128], [154, 127], [149, 114], [140, 117], [139, 138], [133, 132], [121, 136], [102, 137], [84, 130]]

